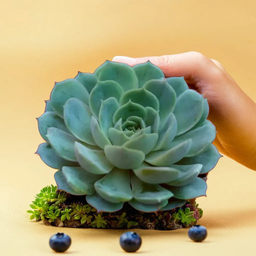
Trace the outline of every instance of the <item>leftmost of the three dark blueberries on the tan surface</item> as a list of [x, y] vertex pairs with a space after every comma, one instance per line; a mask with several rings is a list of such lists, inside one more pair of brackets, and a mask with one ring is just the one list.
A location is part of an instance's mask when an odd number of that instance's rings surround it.
[[68, 235], [58, 232], [50, 237], [49, 244], [55, 252], [62, 253], [69, 248], [71, 239]]

